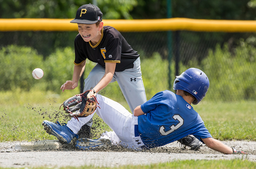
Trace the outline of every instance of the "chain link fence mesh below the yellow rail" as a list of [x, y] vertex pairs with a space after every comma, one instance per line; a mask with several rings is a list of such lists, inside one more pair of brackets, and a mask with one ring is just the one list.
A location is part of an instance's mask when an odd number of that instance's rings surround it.
[[[176, 75], [196, 67], [210, 80], [205, 100], [256, 100], [255, 33], [176, 31], [171, 37], [167, 32], [121, 33], [140, 54], [148, 99], [156, 92], [172, 90], [169, 86]], [[29, 91], [41, 84], [46, 91], [60, 93], [60, 86], [72, 79], [76, 35], [77, 32], [0, 32], [0, 92], [15, 88]], [[84, 78], [94, 65], [87, 62]], [[30, 76], [37, 67], [45, 73], [40, 81]], [[117, 84], [102, 90], [103, 95], [123, 99], [120, 93]]]

